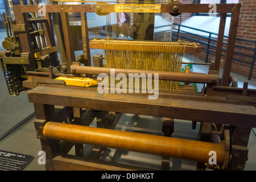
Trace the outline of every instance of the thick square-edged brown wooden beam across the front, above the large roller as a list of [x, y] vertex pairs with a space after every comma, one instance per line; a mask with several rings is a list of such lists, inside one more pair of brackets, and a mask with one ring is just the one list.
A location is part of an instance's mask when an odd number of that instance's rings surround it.
[[39, 104], [256, 127], [256, 109], [254, 106], [171, 98], [148, 100], [144, 96], [129, 94], [100, 94], [85, 90], [41, 86], [30, 90], [28, 98], [30, 102]]

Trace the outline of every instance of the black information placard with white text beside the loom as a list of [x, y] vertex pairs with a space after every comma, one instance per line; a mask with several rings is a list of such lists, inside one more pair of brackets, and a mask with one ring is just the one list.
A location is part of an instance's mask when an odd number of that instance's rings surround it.
[[0, 150], [0, 171], [22, 171], [34, 156]]

